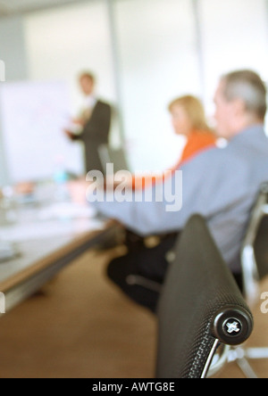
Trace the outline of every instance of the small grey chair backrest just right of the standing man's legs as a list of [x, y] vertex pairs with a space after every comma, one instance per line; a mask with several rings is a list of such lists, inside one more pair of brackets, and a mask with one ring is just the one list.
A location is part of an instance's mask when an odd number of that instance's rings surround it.
[[107, 163], [113, 163], [114, 172], [130, 169], [122, 148], [113, 149], [108, 144], [101, 144], [98, 153], [104, 169], [106, 169]]

